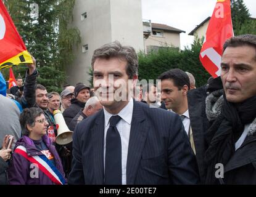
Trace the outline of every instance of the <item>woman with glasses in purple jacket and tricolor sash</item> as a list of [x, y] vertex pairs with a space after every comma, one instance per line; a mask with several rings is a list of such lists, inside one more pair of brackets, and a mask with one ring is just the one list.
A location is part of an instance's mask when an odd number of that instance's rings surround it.
[[20, 115], [21, 137], [15, 144], [8, 175], [11, 185], [63, 185], [63, 167], [47, 136], [49, 124], [41, 108], [26, 108]]

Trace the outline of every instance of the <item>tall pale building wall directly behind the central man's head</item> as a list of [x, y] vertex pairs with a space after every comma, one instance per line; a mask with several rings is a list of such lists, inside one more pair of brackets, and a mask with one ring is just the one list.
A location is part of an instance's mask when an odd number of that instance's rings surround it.
[[[84, 12], [87, 18], [81, 21]], [[77, 82], [89, 85], [93, 52], [106, 43], [118, 40], [137, 51], [143, 50], [141, 0], [76, 0], [72, 26], [81, 34], [81, 44], [74, 49], [75, 60], [67, 68], [67, 81], [72, 85]], [[88, 51], [83, 53], [85, 44]]]

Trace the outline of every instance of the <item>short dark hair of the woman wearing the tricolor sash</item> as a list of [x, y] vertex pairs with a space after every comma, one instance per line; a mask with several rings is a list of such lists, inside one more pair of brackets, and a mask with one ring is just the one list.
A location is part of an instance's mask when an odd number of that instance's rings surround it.
[[25, 108], [20, 114], [20, 126], [22, 127], [22, 135], [29, 135], [27, 124], [31, 127], [35, 126], [36, 117], [44, 114], [43, 110], [38, 107]]

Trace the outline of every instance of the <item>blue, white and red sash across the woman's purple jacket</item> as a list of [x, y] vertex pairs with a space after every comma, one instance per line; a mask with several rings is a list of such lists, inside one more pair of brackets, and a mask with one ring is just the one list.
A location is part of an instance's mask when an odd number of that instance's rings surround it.
[[41, 172], [43, 172], [52, 182], [56, 185], [64, 185], [66, 183], [59, 170], [46, 158], [45, 155], [28, 156], [27, 150], [23, 146], [19, 146], [15, 149], [15, 153], [22, 155], [25, 159], [33, 164], [36, 164]]

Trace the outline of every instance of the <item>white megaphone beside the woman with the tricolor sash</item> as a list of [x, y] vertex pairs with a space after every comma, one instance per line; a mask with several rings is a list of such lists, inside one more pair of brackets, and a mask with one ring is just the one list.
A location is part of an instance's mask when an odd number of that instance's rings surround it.
[[56, 143], [58, 143], [59, 145], [64, 145], [72, 142], [73, 131], [69, 131], [61, 111], [54, 110], [53, 115], [55, 123], [57, 124]]

